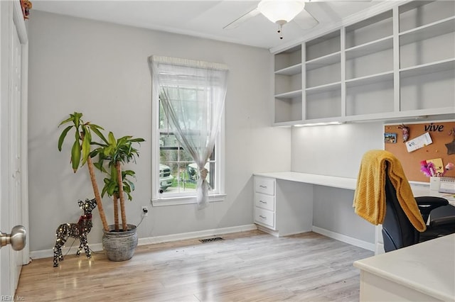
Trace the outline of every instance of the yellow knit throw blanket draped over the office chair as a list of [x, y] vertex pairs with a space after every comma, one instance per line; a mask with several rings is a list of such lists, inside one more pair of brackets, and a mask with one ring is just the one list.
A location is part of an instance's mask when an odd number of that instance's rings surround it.
[[389, 163], [388, 174], [397, 191], [397, 198], [414, 228], [427, 229], [419, 207], [412, 194], [400, 161], [385, 150], [370, 150], [363, 155], [354, 194], [354, 211], [374, 225], [382, 224], [385, 217], [385, 162]]

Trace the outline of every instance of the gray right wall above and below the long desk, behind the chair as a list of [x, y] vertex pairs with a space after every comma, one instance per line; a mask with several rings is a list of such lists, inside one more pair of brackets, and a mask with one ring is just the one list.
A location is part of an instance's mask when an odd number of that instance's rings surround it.
[[[383, 149], [382, 123], [350, 123], [293, 128], [292, 171], [357, 178], [360, 160]], [[355, 215], [353, 190], [315, 186], [313, 225], [366, 242], [375, 242], [374, 225]]]

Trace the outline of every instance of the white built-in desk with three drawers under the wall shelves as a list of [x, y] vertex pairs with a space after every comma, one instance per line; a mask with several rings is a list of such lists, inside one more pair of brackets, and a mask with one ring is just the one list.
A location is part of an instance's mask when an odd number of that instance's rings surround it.
[[[263, 227], [262, 230], [277, 236], [314, 230], [314, 227], [312, 227], [314, 185], [354, 191], [357, 183], [357, 179], [348, 177], [332, 177], [299, 172], [255, 173], [254, 176], [255, 223], [261, 228]], [[264, 184], [258, 181], [259, 179], [266, 181], [266, 183], [267, 181], [269, 182]], [[268, 186], [267, 192], [261, 186]], [[442, 196], [455, 206], [454, 194], [442, 194], [437, 191], [430, 191], [429, 184], [411, 182], [411, 187], [414, 196]], [[355, 240], [350, 240], [351, 238], [346, 236], [337, 236], [334, 238], [374, 250], [376, 254], [380, 254], [383, 252], [380, 230], [381, 227], [378, 226], [376, 228], [374, 245], [368, 242], [357, 244]], [[322, 234], [332, 237], [330, 233]], [[343, 238], [347, 240], [343, 240]]]

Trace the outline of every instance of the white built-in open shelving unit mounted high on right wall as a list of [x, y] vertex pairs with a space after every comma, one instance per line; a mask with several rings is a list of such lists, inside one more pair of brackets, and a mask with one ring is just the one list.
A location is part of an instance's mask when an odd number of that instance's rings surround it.
[[401, 3], [274, 57], [274, 125], [455, 114], [455, 1]]

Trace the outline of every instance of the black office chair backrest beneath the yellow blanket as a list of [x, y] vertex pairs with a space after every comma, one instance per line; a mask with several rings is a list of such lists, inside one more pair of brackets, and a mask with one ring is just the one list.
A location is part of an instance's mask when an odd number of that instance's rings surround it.
[[[387, 164], [387, 162], [386, 162]], [[385, 252], [414, 245], [419, 242], [417, 231], [400, 206], [397, 191], [392, 185], [385, 169], [385, 218], [382, 223], [382, 239]]]

